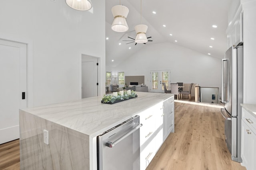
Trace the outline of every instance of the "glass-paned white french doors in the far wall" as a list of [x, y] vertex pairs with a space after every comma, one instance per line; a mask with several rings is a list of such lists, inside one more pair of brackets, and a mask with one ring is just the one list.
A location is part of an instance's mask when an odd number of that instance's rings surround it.
[[170, 84], [170, 70], [152, 70], [150, 71], [150, 92], [163, 93], [164, 86], [163, 82], [165, 82], [166, 87]]

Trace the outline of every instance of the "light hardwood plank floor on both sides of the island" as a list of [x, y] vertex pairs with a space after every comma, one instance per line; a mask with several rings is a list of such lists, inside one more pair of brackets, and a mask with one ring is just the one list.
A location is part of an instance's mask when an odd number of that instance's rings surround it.
[[[19, 140], [0, 145], [0, 170], [19, 170], [19, 156]], [[230, 157], [220, 108], [175, 102], [175, 133], [147, 170], [246, 170]]]

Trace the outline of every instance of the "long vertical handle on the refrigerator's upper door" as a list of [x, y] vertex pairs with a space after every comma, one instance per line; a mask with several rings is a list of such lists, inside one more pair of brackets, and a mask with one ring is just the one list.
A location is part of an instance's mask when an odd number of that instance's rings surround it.
[[[226, 76], [224, 75], [225, 74], [225, 71], [224, 71], [224, 62], [227, 62], [227, 67], [226, 67]], [[228, 86], [228, 59], [222, 59], [221, 60], [221, 70], [222, 70], [222, 74], [221, 74], [221, 77], [222, 77], [222, 93], [221, 93], [221, 102], [222, 103], [226, 103], [226, 102], [228, 102], [228, 99], [226, 99], [226, 90], [224, 90], [224, 89], [226, 89], [227, 88], [227, 90], [228, 90], [228, 94], [229, 94], [229, 86]], [[226, 78], [226, 82], [224, 82], [225, 80], [224, 80], [224, 78]], [[224, 94], [225, 93], [225, 94]], [[228, 95], [229, 96], [229, 95]]]

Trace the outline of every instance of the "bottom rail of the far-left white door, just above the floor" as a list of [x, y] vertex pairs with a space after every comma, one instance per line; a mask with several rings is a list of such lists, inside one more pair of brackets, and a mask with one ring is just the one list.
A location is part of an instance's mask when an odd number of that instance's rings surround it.
[[20, 126], [7, 127], [0, 129], [0, 144], [20, 138]]

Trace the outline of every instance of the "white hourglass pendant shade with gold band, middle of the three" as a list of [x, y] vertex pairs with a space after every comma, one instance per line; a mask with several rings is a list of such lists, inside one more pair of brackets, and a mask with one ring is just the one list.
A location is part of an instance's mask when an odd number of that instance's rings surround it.
[[129, 13], [129, 9], [126, 6], [117, 5], [112, 7], [112, 14], [114, 21], [112, 23], [112, 30], [116, 32], [125, 32], [129, 29], [126, 17]]

